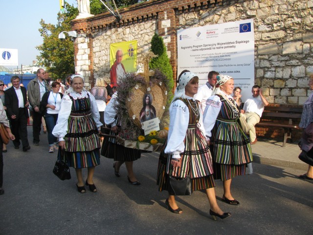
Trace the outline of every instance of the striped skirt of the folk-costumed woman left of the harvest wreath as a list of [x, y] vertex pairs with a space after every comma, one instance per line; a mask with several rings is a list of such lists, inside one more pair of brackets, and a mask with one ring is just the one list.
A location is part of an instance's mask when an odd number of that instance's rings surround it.
[[68, 118], [65, 140], [67, 165], [74, 168], [93, 167], [100, 164], [100, 140], [91, 113]]

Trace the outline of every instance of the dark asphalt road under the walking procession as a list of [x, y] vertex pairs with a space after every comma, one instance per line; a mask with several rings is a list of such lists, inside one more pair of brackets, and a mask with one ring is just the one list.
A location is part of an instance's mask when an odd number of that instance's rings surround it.
[[[31, 127], [28, 127], [31, 136]], [[49, 154], [46, 135], [40, 146], [24, 153], [8, 146], [4, 153], [5, 194], [0, 195], [0, 235], [309, 235], [313, 231], [313, 182], [296, 175], [303, 170], [253, 164], [252, 175], [236, 177], [232, 192], [241, 202], [218, 201], [232, 216], [213, 221], [205, 194], [178, 197], [182, 214], [166, 210], [166, 192], [158, 192], [155, 153], [134, 163], [141, 186], [113, 174], [112, 160], [101, 158], [94, 183], [97, 193], [78, 193], [76, 177], [61, 181], [52, 173], [57, 153]], [[29, 138], [29, 140], [32, 140]], [[86, 178], [86, 171], [85, 171]], [[218, 199], [223, 195], [216, 181]]]

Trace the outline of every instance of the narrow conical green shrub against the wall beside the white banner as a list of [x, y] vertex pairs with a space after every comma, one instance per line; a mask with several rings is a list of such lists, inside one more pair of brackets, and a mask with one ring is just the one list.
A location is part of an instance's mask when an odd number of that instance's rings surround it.
[[169, 58], [167, 57], [166, 47], [164, 45], [162, 37], [158, 36], [156, 33], [153, 35], [151, 40], [151, 51], [157, 55], [157, 57], [152, 58], [149, 63], [149, 67], [153, 70], [161, 71], [168, 79], [167, 87], [168, 91], [168, 104], [172, 101], [173, 94], [172, 90], [174, 87], [173, 81], [173, 70]]

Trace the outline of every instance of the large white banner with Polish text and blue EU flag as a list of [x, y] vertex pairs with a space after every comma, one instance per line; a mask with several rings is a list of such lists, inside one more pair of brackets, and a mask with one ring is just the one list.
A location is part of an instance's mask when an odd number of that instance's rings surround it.
[[179, 29], [177, 32], [178, 73], [189, 70], [206, 86], [209, 71], [234, 78], [242, 89], [242, 100], [251, 95], [254, 85], [253, 19], [208, 24]]

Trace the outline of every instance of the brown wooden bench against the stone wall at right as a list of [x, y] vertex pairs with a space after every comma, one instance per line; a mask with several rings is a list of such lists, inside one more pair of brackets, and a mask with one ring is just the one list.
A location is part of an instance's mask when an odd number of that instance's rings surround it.
[[[291, 130], [299, 129], [301, 115], [302, 108], [266, 106], [264, 107], [261, 121], [256, 126], [283, 128], [285, 132], [283, 147], [285, 147], [287, 140], [291, 139]], [[277, 121], [278, 118], [281, 120], [280, 123], [278, 122], [279, 120]], [[288, 120], [288, 124], [284, 123], [283, 120], [285, 122]]]

